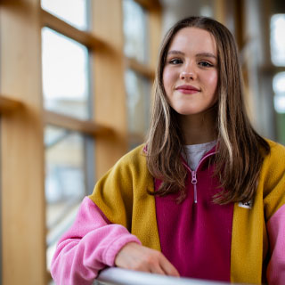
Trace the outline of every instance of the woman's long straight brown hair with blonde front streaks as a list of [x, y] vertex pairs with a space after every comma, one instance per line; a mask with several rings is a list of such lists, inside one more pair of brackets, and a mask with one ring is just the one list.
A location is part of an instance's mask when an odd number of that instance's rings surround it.
[[246, 114], [240, 63], [231, 32], [216, 20], [189, 17], [178, 21], [164, 38], [160, 47], [159, 63], [154, 84], [151, 127], [147, 138], [147, 164], [151, 175], [163, 181], [154, 195], [164, 196], [180, 192], [185, 196], [187, 170], [181, 155], [185, 155], [183, 133], [177, 113], [167, 102], [163, 86], [163, 70], [167, 51], [175, 34], [182, 28], [202, 28], [216, 39], [218, 84], [216, 102], [216, 133], [218, 152], [216, 172], [224, 191], [214, 197], [219, 204], [247, 202], [254, 198], [264, 155], [269, 144], [251, 126]]

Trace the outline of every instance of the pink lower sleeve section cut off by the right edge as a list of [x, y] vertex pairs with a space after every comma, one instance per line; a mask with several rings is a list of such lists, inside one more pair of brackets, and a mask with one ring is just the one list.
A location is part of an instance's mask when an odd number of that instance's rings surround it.
[[266, 227], [271, 250], [267, 281], [271, 285], [281, 285], [285, 281], [285, 205], [274, 213]]

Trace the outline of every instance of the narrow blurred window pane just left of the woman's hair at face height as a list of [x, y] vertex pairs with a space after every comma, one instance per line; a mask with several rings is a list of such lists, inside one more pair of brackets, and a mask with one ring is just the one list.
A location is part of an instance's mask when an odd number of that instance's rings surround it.
[[126, 70], [128, 130], [145, 135], [150, 124], [151, 83], [133, 70]]

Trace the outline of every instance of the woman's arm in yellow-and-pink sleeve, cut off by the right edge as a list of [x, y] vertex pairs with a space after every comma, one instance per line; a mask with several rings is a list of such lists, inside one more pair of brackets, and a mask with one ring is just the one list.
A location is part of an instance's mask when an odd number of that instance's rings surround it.
[[269, 240], [270, 259], [266, 278], [269, 284], [281, 285], [285, 280], [285, 148], [273, 143], [266, 158], [265, 174], [262, 175], [266, 230]]

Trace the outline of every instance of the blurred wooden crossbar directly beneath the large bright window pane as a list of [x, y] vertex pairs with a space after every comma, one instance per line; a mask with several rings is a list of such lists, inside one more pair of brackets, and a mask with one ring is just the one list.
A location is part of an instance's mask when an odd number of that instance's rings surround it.
[[94, 121], [80, 120], [77, 118], [61, 115], [59, 113], [55, 113], [49, 110], [44, 111], [44, 120], [45, 124], [60, 126], [63, 128], [67, 128], [71, 131], [80, 132], [92, 136], [105, 136], [112, 134], [112, 130], [109, 127], [96, 124], [94, 123]]

